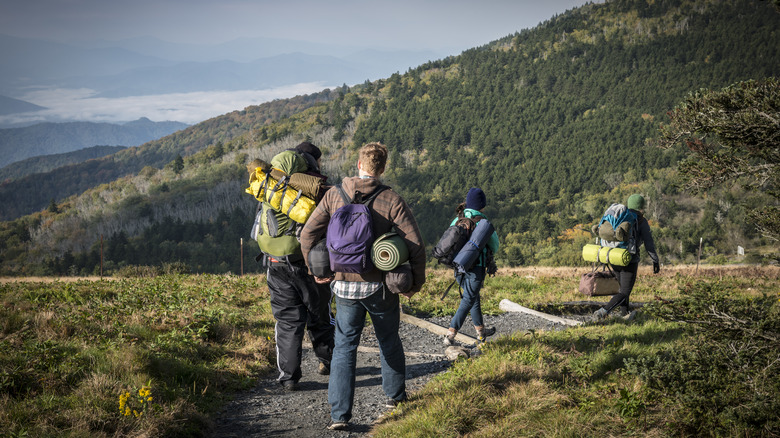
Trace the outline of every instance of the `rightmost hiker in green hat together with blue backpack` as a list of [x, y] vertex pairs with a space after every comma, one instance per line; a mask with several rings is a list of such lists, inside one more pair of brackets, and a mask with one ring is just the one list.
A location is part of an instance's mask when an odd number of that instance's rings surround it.
[[[621, 204], [613, 204], [610, 206], [610, 209], [607, 209], [607, 213], [610, 212], [612, 207], [620, 208], [623, 206]], [[610, 241], [602, 238], [600, 239], [600, 242], [602, 246], [624, 248], [631, 254], [631, 260], [626, 266], [611, 266], [611, 269], [615, 273], [618, 283], [620, 284], [620, 289], [606, 306], [593, 313], [594, 320], [606, 318], [609, 312], [618, 306], [620, 306], [620, 315], [624, 319], [633, 320], [634, 317], [636, 317], [636, 311], [630, 311], [628, 299], [631, 295], [631, 291], [634, 289], [634, 283], [636, 282], [636, 275], [639, 270], [639, 248], [642, 244], [645, 245], [647, 254], [653, 261], [653, 273], [657, 274], [661, 270], [661, 264], [655, 250], [653, 235], [650, 233], [650, 224], [642, 213], [645, 208], [645, 198], [642, 195], [633, 194], [628, 197], [625, 208], [627, 208], [627, 211], [621, 212], [620, 219], [615, 221], [614, 224], [609, 223], [606, 218], [610, 215], [605, 214], [600, 223], [594, 226], [594, 230], [598, 230], [601, 226], [607, 226], [609, 228], [614, 228], [618, 234], [625, 234], [625, 238], [621, 237], [620, 240]]]

